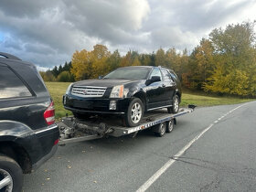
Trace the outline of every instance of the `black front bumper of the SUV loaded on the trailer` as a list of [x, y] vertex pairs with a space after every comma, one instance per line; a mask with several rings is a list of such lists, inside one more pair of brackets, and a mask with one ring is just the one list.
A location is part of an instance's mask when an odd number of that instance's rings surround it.
[[[116, 109], [110, 110], [110, 102], [116, 101]], [[71, 112], [91, 112], [91, 113], [114, 113], [123, 114], [127, 112], [130, 98], [80, 98], [76, 96], [64, 95], [64, 108]]]

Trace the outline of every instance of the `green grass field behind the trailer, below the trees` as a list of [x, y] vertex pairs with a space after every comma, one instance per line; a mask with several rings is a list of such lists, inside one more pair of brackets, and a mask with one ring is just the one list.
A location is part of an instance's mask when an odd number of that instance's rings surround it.
[[[65, 94], [69, 82], [46, 82], [48, 91], [55, 103], [56, 118], [59, 119], [71, 112], [65, 110], [62, 105], [62, 96]], [[236, 97], [213, 97], [205, 95], [197, 95], [195, 93], [183, 92], [181, 106], [187, 106], [187, 104], [195, 104], [197, 106], [213, 106], [221, 104], [235, 104], [240, 102], [252, 101], [249, 99], [239, 99]]]

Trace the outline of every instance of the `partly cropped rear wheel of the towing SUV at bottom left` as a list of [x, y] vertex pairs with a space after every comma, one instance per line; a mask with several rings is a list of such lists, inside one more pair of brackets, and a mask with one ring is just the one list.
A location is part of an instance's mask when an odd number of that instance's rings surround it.
[[0, 188], [0, 192], [4, 191], [21, 191], [23, 186], [23, 174], [21, 167], [16, 161], [8, 156], [0, 155], [0, 185], [8, 180], [9, 182]]

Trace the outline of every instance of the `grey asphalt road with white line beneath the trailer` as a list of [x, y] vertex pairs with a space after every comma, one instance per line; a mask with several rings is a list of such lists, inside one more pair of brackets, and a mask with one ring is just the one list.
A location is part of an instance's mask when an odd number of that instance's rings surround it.
[[256, 191], [256, 101], [240, 105], [198, 108], [162, 138], [144, 131], [61, 146], [23, 189], [136, 191], [148, 181], [147, 191]]

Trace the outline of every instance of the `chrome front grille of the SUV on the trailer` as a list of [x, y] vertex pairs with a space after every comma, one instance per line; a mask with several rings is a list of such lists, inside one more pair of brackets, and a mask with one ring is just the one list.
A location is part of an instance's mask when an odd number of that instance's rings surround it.
[[71, 94], [79, 97], [102, 97], [106, 87], [78, 86], [73, 87]]

